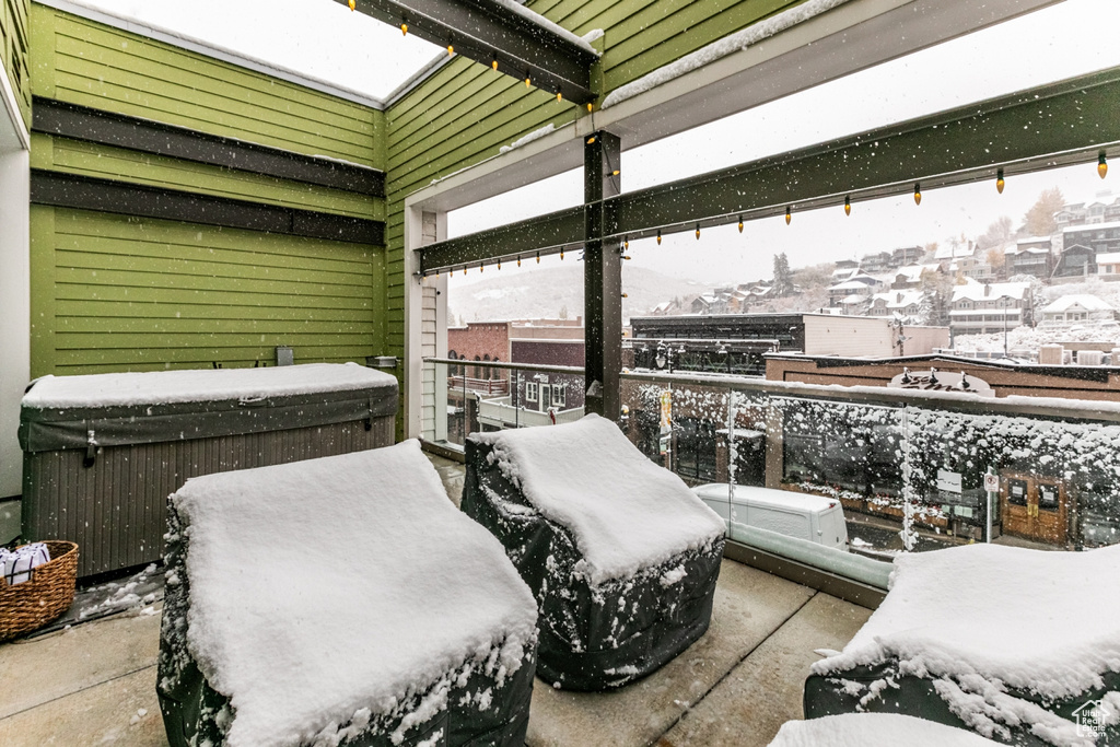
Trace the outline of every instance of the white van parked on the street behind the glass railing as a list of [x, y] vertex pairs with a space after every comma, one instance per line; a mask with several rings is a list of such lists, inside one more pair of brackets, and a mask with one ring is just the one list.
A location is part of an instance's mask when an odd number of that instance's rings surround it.
[[732, 517], [728, 511], [728, 487], [727, 483], [709, 483], [692, 492], [724, 521], [848, 550], [848, 524], [843, 506], [836, 498], [736, 485]]

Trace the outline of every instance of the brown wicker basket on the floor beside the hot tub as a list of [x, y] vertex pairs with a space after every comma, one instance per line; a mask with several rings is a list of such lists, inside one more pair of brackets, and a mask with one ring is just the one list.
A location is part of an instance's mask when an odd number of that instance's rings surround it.
[[31, 579], [9, 586], [0, 577], [0, 641], [30, 633], [55, 619], [74, 601], [77, 545], [47, 540], [50, 561], [31, 570]]

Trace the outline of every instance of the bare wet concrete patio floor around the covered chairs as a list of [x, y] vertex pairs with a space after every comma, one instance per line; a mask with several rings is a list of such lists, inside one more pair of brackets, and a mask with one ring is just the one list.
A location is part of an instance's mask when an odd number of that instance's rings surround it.
[[[452, 499], [459, 465], [436, 463]], [[816, 648], [841, 650], [870, 610], [725, 560], [708, 633], [618, 691], [536, 681], [531, 747], [767, 745], [801, 717]], [[167, 745], [156, 702], [159, 615], [124, 614], [0, 645], [0, 745]]]

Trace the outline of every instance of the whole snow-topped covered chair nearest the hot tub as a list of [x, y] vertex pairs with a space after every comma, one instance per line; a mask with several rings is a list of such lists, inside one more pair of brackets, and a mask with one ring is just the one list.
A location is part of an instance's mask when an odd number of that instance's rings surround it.
[[522, 745], [536, 606], [416, 441], [171, 496], [172, 747]]

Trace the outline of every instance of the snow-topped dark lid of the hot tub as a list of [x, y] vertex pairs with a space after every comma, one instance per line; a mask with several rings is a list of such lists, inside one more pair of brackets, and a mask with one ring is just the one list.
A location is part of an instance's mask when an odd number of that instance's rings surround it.
[[356, 363], [43, 376], [24, 395], [19, 441], [27, 452], [158, 443], [395, 412], [396, 379]]

